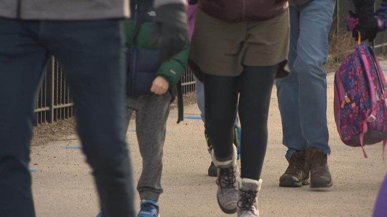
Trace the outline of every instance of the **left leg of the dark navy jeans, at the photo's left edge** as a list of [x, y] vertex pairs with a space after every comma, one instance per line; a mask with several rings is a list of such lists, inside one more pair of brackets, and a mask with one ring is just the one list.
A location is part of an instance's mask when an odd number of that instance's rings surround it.
[[35, 216], [30, 140], [33, 110], [48, 52], [39, 22], [0, 18], [0, 216]]

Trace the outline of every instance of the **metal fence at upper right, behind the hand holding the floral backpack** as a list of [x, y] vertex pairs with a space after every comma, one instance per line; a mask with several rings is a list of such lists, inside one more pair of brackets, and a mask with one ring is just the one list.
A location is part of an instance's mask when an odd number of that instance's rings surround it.
[[[380, 6], [383, 0], [375, 0], [375, 10]], [[331, 40], [334, 40], [336, 43], [336, 49], [338, 53], [349, 53], [354, 49], [354, 46], [349, 46], [347, 50], [344, 46], [340, 46], [343, 42], [347, 40], [352, 40], [351, 32], [347, 31], [347, 17], [348, 11], [354, 11], [354, 6], [352, 1], [349, 0], [337, 0], [335, 7], [335, 14], [331, 28]], [[386, 53], [387, 48], [387, 32], [378, 33], [374, 42], [374, 49], [377, 55]], [[354, 43], [353, 43], [354, 44]]]

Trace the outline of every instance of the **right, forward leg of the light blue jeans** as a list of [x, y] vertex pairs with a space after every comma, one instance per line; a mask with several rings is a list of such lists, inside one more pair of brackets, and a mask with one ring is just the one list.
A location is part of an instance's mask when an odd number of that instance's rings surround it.
[[335, 0], [314, 0], [300, 8], [300, 35], [294, 70], [298, 73], [301, 130], [308, 146], [330, 153], [327, 126], [328, 34]]

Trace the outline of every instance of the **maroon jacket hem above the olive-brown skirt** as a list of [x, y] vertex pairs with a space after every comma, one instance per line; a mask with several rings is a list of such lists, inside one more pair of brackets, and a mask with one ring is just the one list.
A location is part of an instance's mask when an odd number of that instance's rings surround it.
[[288, 8], [287, 0], [200, 0], [206, 14], [228, 22], [264, 21]]

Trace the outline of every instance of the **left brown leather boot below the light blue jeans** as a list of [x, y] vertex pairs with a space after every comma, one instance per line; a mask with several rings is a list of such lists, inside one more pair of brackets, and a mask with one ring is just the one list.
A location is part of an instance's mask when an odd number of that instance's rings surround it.
[[309, 184], [309, 168], [305, 160], [305, 151], [295, 151], [289, 160], [289, 166], [280, 177], [282, 187], [301, 187]]

